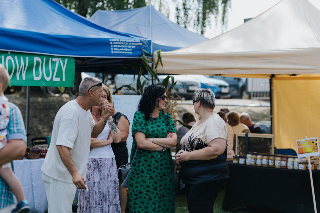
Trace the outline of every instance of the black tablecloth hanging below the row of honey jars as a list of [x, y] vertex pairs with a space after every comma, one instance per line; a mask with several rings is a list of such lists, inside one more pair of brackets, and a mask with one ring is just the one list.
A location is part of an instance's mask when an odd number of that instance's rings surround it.
[[[230, 178], [223, 210], [259, 206], [284, 212], [314, 212], [309, 171], [234, 164], [228, 161]], [[320, 170], [312, 171], [317, 210], [320, 210]]]

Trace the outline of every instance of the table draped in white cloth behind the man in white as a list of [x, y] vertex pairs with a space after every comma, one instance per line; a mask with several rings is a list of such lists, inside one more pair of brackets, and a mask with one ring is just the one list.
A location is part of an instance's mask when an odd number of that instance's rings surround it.
[[42, 181], [41, 166], [43, 162], [44, 158], [36, 160], [24, 158], [23, 160], [13, 161], [14, 173], [20, 180], [31, 208], [30, 212], [45, 212], [48, 210], [47, 196]]

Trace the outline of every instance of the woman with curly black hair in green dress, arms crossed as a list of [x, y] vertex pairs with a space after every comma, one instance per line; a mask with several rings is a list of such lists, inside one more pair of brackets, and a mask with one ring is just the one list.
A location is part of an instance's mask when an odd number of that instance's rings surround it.
[[167, 98], [164, 86], [148, 86], [140, 99], [139, 111], [133, 117], [130, 212], [175, 212], [173, 164], [169, 148], [177, 143], [177, 131], [170, 113], [164, 113]]

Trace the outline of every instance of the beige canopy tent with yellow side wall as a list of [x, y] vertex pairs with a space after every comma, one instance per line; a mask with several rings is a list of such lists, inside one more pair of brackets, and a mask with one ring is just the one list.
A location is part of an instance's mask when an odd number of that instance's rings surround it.
[[296, 140], [320, 136], [320, 11], [307, 0], [282, 0], [233, 30], [161, 56], [158, 73], [271, 79], [277, 148], [296, 150]]

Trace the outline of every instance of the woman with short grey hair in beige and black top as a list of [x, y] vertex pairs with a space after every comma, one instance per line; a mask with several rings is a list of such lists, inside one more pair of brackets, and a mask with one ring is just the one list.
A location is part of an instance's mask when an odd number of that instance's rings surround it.
[[213, 92], [201, 88], [195, 94], [192, 103], [201, 119], [181, 139], [175, 161], [181, 164], [189, 212], [212, 213], [213, 203], [229, 178], [228, 130], [225, 121], [213, 112]]

